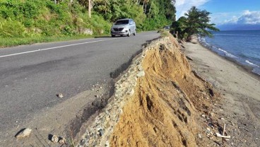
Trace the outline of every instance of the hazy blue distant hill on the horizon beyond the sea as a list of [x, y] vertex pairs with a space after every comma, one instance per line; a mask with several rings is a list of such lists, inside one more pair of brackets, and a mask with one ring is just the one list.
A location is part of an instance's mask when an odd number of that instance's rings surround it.
[[247, 24], [225, 24], [217, 25], [220, 30], [260, 30], [259, 25], [247, 25]]

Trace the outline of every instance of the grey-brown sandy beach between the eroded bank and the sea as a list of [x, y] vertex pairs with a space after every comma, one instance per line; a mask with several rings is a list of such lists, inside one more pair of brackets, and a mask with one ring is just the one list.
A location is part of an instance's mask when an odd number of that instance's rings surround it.
[[[259, 77], [206, 49], [196, 40], [185, 42], [184, 47], [184, 53], [191, 58], [191, 69], [220, 93], [219, 104], [213, 105], [213, 111], [218, 116], [215, 121], [226, 124], [226, 132], [231, 136], [225, 146], [259, 146]], [[214, 142], [220, 145], [218, 141]]]

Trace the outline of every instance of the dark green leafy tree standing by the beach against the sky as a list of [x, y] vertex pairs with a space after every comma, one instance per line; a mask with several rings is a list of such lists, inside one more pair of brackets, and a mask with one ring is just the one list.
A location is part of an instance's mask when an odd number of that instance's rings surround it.
[[211, 13], [206, 10], [201, 11], [195, 6], [192, 6], [188, 13], [184, 14], [186, 17], [179, 18], [179, 20], [172, 25], [175, 25], [176, 30], [181, 31], [179, 32], [179, 37], [187, 35], [187, 41], [191, 40], [191, 35], [211, 37], [211, 31], [219, 30], [214, 27], [214, 23], [210, 23], [210, 14]]

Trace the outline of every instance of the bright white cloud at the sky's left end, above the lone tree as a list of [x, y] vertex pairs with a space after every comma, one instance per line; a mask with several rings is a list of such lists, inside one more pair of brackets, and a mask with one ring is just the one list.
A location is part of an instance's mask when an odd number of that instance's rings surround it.
[[184, 16], [184, 13], [186, 13], [191, 6], [202, 6], [206, 2], [210, 0], [176, 0], [176, 11], [177, 11], [177, 18], [180, 18], [181, 16]]

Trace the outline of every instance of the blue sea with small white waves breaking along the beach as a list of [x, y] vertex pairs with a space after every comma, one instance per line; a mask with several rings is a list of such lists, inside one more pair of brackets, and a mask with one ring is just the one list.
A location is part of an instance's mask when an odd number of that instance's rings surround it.
[[214, 32], [213, 37], [199, 37], [199, 42], [260, 76], [260, 30]]

